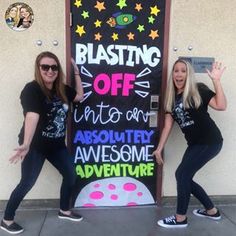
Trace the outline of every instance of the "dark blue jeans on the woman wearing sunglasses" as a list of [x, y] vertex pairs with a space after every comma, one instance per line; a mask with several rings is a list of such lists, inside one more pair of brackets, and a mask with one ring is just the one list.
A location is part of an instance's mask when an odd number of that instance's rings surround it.
[[[34, 186], [47, 159], [62, 175], [62, 185], [60, 190], [60, 209], [69, 210], [70, 196], [76, 179], [75, 168], [72, 156], [66, 148], [56, 150], [50, 155], [30, 150], [21, 165], [21, 180], [12, 192], [7, 203], [4, 219], [13, 220], [16, 209], [24, 199], [25, 195]], [[50, 181], [50, 179], [48, 180]]]

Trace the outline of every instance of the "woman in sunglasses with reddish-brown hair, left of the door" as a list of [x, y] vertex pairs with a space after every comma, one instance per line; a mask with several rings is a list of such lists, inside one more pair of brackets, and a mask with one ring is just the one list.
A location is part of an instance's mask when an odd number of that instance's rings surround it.
[[64, 84], [57, 56], [51, 52], [40, 53], [35, 61], [35, 79], [21, 92], [24, 123], [19, 134], [20, 146], [10, 158], [11, 163], [21, 161], [21, 180], [10, 196], [1, 221], [1, 229], [8, 233], [23, 232], [14, 222], [15, 212], [34, 186], [46, 159], [62, 175], [58, 217], [72, 221], [83, 219], [69, 209], [76, 173], [65, 144], [66, 118], [70, 103], [81, 101], [84, 95], [79, 69], [73, 59], [72, 65], [75, 89]]

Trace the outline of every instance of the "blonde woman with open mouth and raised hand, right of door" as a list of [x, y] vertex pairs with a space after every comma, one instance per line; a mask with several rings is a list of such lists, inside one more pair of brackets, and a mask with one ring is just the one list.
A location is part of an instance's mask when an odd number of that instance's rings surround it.
[[193, 194], [204, 206], [196, 209], [194, 215], [213, 220], [221, 218], [205, 190], [193, 177], [208, 161], [221, 150], [223, 138], [219, 128], [211, 119], [208, 106], [215, 110], [225, 110], [227, 101], [221, 86], [221, 76], [225, 70], [222, 64], [215, 62], [211, 71], [207, 70], [214, 86], [214, 92], [203, 83], [196, 83], [194, 70], [185, 60], [177, 60], [172, 68], [165, 97], [165, 124], [160, 140], [153, 155], [162, 165], [162, 151], [176, 121], [183, 132], [188, 147], [178, 166], [175, 177], [177, 181], [176, 214], [159, 220], [159, 226], [165, 228], [183, 228], [187, 223], [187, 209], [190, 195]]

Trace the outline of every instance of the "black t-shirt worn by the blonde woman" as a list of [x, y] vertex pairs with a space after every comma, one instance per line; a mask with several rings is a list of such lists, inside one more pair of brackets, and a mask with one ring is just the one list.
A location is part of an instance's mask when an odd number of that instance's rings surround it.
[[184, 109], [182, 94], [178, 94], [171, 115], [184, 133], [188, 145], [220, 143], [223, 140], [221, 132], [207, 111], [215, 93], [202, 83], [198, 83], [198, 90], [202, 98], [198, 109]]

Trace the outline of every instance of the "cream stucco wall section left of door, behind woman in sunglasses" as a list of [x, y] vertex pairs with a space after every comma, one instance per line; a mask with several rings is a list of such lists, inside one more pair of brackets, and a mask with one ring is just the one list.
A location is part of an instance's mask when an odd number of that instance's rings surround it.
[[[17, 144], [23, 115], [19, 95], [26, 82], [33, 79], [34, 61], [44, 50], [58, 55], [65, 68], [65, 1], [25, 1], [34, 12], [32, 26], [22, 32], [11, 30], [5, 23], [5, 11], [17, 1], [1, 1], [0, 5], [0, 199], [8, 199], [19, 181], [20, 164], [8, 159]], [[24, 1], [19, 1], [24, 2]], [[42, 46], [36, 41], [41, 40]], [[59, 42], [58, 46], [53, 41]], [[61, 177], [47, 162], [27, 198], [59, 198]]]

